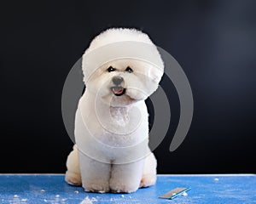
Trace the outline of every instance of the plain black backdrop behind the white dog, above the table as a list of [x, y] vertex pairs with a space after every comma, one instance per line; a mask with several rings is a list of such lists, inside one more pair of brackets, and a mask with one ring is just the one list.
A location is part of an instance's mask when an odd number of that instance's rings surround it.
[[68, 71], [108, 27], [145, 31], [183, 67], [194, 94], [174, 152], [179, 103], [154, 150], [159, 173], [256, 173], [255, 1], [6, 1], [0, 20], [0, 173], [64, 173], [72, 141], [61, 117]]

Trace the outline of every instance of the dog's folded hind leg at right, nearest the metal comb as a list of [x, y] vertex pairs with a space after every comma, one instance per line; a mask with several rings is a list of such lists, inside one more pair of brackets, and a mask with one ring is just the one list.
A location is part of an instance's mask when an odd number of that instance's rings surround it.
[[143, 178], [141, 180], [140, 188], [154, 185], [156, 181], [156, 159], [154, 154], [151, 153], [145, 159]]

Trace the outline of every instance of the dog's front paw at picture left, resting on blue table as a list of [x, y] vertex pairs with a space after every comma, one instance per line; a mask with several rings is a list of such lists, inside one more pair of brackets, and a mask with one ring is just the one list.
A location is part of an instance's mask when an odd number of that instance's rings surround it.
[[91, 180], [83, 185], [86, 192], [106, 193], [109, 191], [108, 181]]

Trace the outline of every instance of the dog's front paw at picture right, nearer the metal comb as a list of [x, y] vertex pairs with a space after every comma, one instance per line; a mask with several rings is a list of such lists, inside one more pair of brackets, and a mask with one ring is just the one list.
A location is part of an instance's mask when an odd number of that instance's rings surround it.
[[139, 185], [128, 180], [110, 179], [109, 187], [113, 193], [131, 193], [135, 192]]

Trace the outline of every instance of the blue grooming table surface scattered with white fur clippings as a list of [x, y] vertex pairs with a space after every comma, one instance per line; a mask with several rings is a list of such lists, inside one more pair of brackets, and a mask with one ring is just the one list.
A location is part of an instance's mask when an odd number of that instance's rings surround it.
[[[191, 190], [158, 198], [177, 187]], [[67, 184], [63, 174], [0, 174], [0, 203], [256, 203], [256, 175], [159, 175], [154, 186], [135, 193], [97, 194]]]

